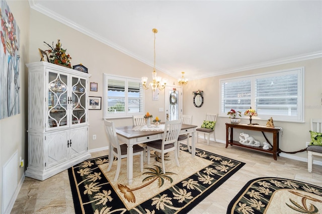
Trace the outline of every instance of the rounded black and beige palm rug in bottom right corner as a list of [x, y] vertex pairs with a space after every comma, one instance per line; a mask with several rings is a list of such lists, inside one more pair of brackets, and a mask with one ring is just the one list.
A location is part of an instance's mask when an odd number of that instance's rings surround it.
[[230, 201], [227, 213], [321, 213], [322, 188], [276, 177], [249, 181]]

